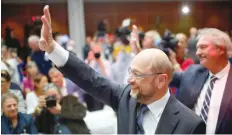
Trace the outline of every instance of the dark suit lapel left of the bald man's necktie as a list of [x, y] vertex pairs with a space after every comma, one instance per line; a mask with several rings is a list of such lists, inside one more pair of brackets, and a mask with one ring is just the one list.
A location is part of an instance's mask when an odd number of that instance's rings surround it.
[[137, 100], [135, 98], [130, 99], [129, 104], [129, 133], [130, 134], [136, 134], [136, 106], [137, 106]]

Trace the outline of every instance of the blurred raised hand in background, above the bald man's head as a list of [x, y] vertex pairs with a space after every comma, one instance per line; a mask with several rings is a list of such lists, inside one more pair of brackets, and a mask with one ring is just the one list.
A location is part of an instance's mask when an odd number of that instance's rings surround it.
[[136, 25], [133, 25], [131, 37], [130, 37], [130, 46], [132, 51], [135, 54], [138, 54], [141, 51], [140, 45], [139, 45], [139, 34], [138, 34], [138, 28]]

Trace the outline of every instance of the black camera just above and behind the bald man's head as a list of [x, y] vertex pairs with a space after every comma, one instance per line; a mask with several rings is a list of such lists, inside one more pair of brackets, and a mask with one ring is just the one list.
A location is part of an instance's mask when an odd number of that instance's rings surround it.
[[170, 31], [165, 30], [164, 36], [162, 38], [162, 41], [160, 43], [160, 49], [164, 51], [164, 53], [169, 56], [169, 50], [171, 49], [174, 52], [176, 52], [176, 46], [178, 44], [178, 40], [176, 39], [175, 35], [172, 34]]

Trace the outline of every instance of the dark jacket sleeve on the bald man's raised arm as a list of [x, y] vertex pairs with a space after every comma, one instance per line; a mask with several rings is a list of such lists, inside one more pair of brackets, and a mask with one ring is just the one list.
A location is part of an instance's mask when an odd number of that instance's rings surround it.
[[59, 69], [84, 91], [117, 110], [123, 86], [104, 78], [71, 53], [67, 63]]

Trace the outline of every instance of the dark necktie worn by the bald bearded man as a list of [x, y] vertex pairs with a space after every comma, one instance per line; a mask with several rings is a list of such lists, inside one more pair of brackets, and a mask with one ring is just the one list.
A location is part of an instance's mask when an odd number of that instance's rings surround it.
[[143, 130], [143, 119], [144, 119], [144, 115], [145, 113], [148, 111], [148, 107], [147, 105], [142, 104], [140, 107], [140, 112], [139, 115], [137, 117], [137, 134], [144, 134], [144, 130]]

